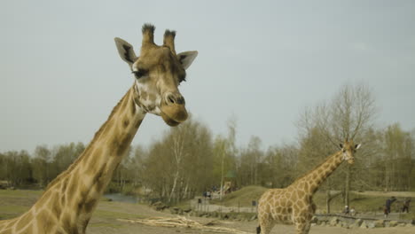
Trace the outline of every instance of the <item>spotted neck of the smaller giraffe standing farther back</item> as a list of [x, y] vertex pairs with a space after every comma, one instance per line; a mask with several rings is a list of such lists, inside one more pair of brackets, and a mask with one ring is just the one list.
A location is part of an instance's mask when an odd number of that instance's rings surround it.
[[327, 157], [325, 162], [317, 166], [314, 170], [309, 172], [309, 174], [304, 175], [297, 183], [297, 186], [302, 187], [304, 191], [313, 195], [321, 183], [325, 182], [325, 179], [332, 175], [333, 171], [341, 165], [343, 162], [342, 152], [336, 152], [331, 156]]

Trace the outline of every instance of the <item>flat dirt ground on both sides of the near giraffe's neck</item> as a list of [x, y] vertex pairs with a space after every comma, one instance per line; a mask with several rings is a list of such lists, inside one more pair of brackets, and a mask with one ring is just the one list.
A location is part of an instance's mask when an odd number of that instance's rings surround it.
[[[40, 191], [0, 191], [0, 219], [12, 218], [24, 213], [35, 200], [40, 196]], [[144, 224], [129, 223], [117, 221], [117, 219], [143, 219], [151, 217], [176, 217], [174, 214], [167, 212], [157, 212], [153, 208], [146, 205], [129, 204], [122, 202], [100, 201], [97, 210], [94, 212], [87, 233], [90, 234], [173, 234], [173, 233], [219, 233], [213, 231], [192, 230], [188, 228], [163, 228], [151, 227]], [[200, 223], [211, 222], [212, 218], [198, 218], [186, 217]], [[243, 230], [250, 233], [255, 233], [255, 228], [258, 225], [257, 221], [252, 222], [234, 222], [234, 221], [217, 221], [216, 226]], [[294, 226], [277, 225], [271, 233], [294, 234]], [[395, 227], [395, 228], [380, 228], [380, 229], [344, 229], [337, 227], [312, 227], [311, 234], [392, 234], [392, 233], [415, 233], [415, 227]]]

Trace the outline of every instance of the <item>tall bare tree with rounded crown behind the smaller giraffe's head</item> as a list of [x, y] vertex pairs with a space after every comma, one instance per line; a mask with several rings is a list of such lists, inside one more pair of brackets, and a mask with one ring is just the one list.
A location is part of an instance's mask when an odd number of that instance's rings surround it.
[[[366, 144], [364, 132], [372, 129], [373, 119], [377, 113], [372, 92], [363, 84], [344, 85], [333, 99], [307, 109], [301, 116], [299, 127], [302, 132], [318, 129], [319, 136], [327, 143], [326, 149], [333, 151], [340, 143], [353, 139]], [[351, 168], [347, 165], [342, 169], [344, 179], [345, 205], [349, 203]], [[330, 199], [327, 199], [330, 200]]]

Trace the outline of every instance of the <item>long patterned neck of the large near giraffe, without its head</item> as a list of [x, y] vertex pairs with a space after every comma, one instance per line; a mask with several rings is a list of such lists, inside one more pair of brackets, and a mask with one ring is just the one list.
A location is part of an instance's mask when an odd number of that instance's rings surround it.
[[79, 158], [48, 185], [27, 213], [10, 220], [14, 223], [12, 230], [85, 233], [100, 196], [145, 117], [135, 100], [137, 91], [133, 86]]

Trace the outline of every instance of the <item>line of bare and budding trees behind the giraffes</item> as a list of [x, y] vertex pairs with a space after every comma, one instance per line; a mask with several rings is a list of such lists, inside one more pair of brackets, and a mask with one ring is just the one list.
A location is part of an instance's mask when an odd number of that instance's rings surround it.
[[[207, 125], [190, 119], [169, 129], [147, 148], [131, 147], [113, 177], [113, 186], [141, 189], [152, 198], [176, 202], [231, 182], [234, 189], [259, 184], [280, 188], [321, 163], [353, 138], [363, 146], [354, 165], [344, 163], [321, 190], [415, 190], [415, 138], [398, 123], [376, 127], [377, 114], [370, 90], [362, 85], [343, 86], [330, 100], [307, 108], [297, 121], [299, 135], [292, 144], [276, 144], [263, 150], [262, 140], [252, 136], [237, 146], [236, 120], [228, 121], [226, 136], [214, 136]], [[82, 143], [49, 149], [38, 146], [34, 155], [25, 151], [0, 154], [0, 180], [13, 186], [47, 183], [83, 151]], [[331, 193], [327, 192], [327, 209]]]

